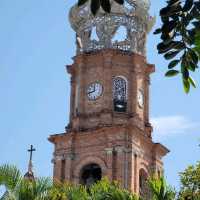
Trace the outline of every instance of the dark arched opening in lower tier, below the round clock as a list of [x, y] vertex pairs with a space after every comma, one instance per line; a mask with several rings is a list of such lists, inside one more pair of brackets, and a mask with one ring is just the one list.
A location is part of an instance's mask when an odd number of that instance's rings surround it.
[[92, 184], [101, 180], [101, 167], [95, 163], [84, 166], [80, 173], [80, 184], [90, 187]]

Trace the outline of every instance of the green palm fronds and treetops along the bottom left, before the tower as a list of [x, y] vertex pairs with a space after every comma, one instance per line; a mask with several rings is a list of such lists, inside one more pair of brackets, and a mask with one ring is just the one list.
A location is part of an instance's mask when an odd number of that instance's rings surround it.
[[5, 186], [6, 193], [0, 197], [1, 200], [139, 200], [136, 195], [107, 178], [90, 188], [56, 181], [53, 183], [49, 178], [30, 181], [10, 165], [0, 166], [0, 186], [2, 185]]

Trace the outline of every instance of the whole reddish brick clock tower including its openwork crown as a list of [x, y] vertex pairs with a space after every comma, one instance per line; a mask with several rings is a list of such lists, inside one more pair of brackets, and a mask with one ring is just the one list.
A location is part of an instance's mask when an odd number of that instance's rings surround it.
[[71, 8], [77, 53], [67, 66], [69, 125], [49, 137], [54, 179], [90, 185], [107, 176], [142, 194], [147, 177], [162, 173], [169, 151], [152, 141], [149, 122], [149, 6], [148, 0], [125, 0], [123, 6], [111, 0], [111, 13], [100, 10], [95, 17], [88, 3]]

